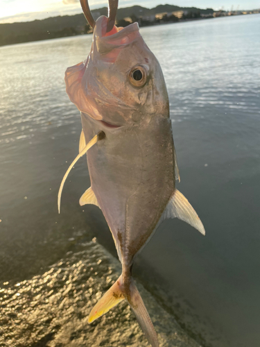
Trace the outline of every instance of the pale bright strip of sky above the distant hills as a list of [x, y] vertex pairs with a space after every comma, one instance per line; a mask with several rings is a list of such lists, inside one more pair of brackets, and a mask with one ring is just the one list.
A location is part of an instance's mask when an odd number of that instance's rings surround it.
[[[161, 3], [182, 7], [213, 8], [214, 10], [253, 10], [260, 0], [119, 0], [119, 7], [134, 5], [153, 8]], [[89, 0], [90, 8], [107, 6], [104, 0]], [[58, 15], [81, 13], [79, 0], [0, 0], [0, 23], [29, 22]]]

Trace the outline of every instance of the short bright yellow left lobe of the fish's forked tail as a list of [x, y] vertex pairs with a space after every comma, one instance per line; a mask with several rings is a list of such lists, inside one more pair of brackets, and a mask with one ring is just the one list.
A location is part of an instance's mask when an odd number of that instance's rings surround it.
[[92, 308], [89, 314], [88, 322], [92, 323], [103, 314], [107, 313], [112, 307], [124, 300], [123, 292], [121, 291], [121, 276], [114, 285], [102, 296], [100, 301]]

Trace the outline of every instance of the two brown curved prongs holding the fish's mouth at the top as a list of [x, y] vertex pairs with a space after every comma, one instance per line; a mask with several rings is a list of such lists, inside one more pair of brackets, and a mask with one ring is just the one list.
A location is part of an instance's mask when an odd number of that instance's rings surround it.
[[[96, 22], [92, 16], [92, 12], [89, 8], [88, 0], [80, 0], [81, 7], [83, 9], [83, 13], [89, 22], [89, 25], [94, 28]], [[114, 22], [116, 21], [116, 11], [119, 6], [119, 0], [108, 0], [108, 21], [107, 21], [107, 33], [112, 31], [114, 28]]]

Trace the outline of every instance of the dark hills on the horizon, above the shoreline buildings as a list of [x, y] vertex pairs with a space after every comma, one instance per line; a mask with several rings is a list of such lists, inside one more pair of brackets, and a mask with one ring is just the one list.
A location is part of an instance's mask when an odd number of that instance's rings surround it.
[[[121, 20], [125, 17], [135, 17], [138, 19], [141, 16], [150, 16], [159, 12], [173, 12], [177, 10], [200, 12], [201, 14], [212, 14], [214, 12], [211, 8], [202, 10], [200, 8], [182, 8], [167, 4], [159, 5], [155, 8], [132, 6], [119, 8], [116, 19]], [[99, 8], [98, 10], [93, 10], [92, 13], [94, 17], [107, 15], [107, 8]], [[86, 26], [86, 19], [83, 14], [50, 17], [33, 22], [0, 24], [0, 45], [79, 35], [80, 33], [87, 33], [88, 30], [89, 26]]]

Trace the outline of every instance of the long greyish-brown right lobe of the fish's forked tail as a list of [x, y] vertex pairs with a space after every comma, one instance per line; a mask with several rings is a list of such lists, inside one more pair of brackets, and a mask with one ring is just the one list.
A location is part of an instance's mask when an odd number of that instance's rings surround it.
[[150, 345], [152, 347], [159, 347], [157, 333], [155, 332], [153, 322], [150, 319], [146, 306], [144, 305], [144, 301], [141, 298], [137, 286], [132, 278], [130, 282], [130, 298], [126, 296], [126, 299], [132, 310], [135, 312], [135, 316], [137, 317], [141, 330], [143, 330], [144, 335], [146, 335], [146, 339], [148, 339]]

